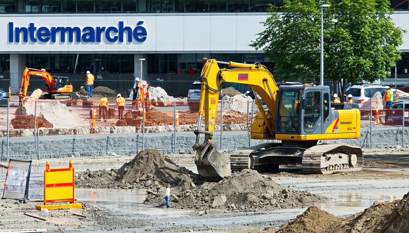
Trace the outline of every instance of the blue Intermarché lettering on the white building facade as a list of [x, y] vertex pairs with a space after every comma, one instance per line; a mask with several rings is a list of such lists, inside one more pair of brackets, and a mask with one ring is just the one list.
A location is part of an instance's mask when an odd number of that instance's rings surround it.
[[[32, 42], [56, 42], [57, 32], [60, 32], [60, 41], [65, 42], [65, 35], [68, 32], [68, 41], [73, 42], [74, 32], [76, 42], [101, 42], [101, 36], [105, 34], [105, 37], [110, 42], [123, 42], [124, 33], [127, 31], [128, 42], [132, 42], [133, 38], [139, 42], [146, 40], [146, 29], [142, 27], [144, 21], [137, 22], [137, 26], [132, 29], [131, 27], [124, 27], [124, 22], [120, 21], [117, 27], [84, 27], [82, 30], [79, 27], [39, 27], [37, 29], [34, 23], [30, 23], [29, 27], [14, 27], [13, 22], [9, 22], [9, 42], [20, 42], [20, 34], [22, 33], [23, 42], [28, 42], [28, 38]], [[82, 33], [82, 35], [81, 35]]]

